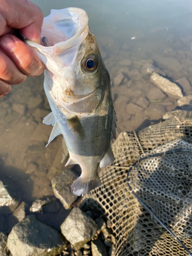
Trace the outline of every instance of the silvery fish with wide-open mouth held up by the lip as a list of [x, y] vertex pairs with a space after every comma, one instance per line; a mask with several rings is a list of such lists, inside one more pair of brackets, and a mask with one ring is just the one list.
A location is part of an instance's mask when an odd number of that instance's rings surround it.
[[51, 10], [41, 37], [42, 45], [26, 42], [46, 66], [44, 89], [52, 112], [43, 123], [53, 126], [48, 144], [63, 135], [69, 151], [66, 166], [81, 167], [73, 193], [86, 195], [101, 186], [98, 167], [114, 162], [111, 140], [116, 139], [117, 118], [110, 75], [84, 10]]

